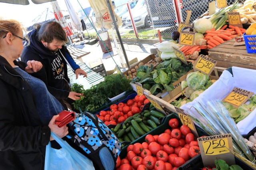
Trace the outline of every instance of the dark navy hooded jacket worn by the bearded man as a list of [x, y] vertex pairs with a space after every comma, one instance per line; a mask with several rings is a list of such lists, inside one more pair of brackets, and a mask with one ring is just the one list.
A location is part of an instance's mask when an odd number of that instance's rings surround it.
[[[53, 75], [53, 71], [51, 69], [51, 63], [49, 57], [54, 56], [55, 54], [52, 53], [50, 50], [46, 49], [44, 45], [38, 41], [38, 35], [36, 29], [28, 33], [28, 37], [30, 37], [30, 45], [28, 47], [25, 47], [24, 50], [22, 51], [22, 56], [21, 60], [23, 62], [27, 62], [30, 60], [35, 60], [35, 61], [40, 61], [43, 65], [44, 70], [46, 71], [46, 80], [42, 79], [40, 75], [36, 76], [37, 78], [40, 78], [41, 80], [44, 81], [44, 83], [48, 86], [48, 91], [56, 98], [59, 99], [66, 99], [68, 98], [69, 95], [69, 87], [63, 88], [64, 90], [59, 90], [56, 89], [56, 84], [55, 84], [55, 79]], [[70, 62], [70, 65], [74, 70], [79, 68], [79, 66], [74, 62], [72, 57], [70, 57], [70, 53], [66, 49], [65, 46], [62, 46], [62, 49], [60, 49], [61, 53], [67, 58], [68, 61]], [[68, 55], [68, 56], [67, 56]], [[67, 68], [67, 63], [60, 55], [62, 58], [62, 61], [64, 62], [64, 78], [67, 80], [68, 83], [70, 83], [70, 80], [68, 78], [68, 68]], [[71, 59], [70, 59], [71, 58]]]

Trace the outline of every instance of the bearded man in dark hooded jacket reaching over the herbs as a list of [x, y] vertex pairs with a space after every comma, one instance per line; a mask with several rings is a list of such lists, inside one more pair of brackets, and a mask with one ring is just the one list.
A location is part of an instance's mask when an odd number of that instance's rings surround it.
[[[80, 94], [70, 92], [67, 64], [76, 74], [76, 78], [78, 75], [84, 75], [84, 77], [87, 75], [75, 63], [64, 46], [68, 39], [62, 26], [55, 21], [44, 23], [28, 33], [28, 38], [30, 44], [22, 51], [21, 60], [25, 63], [30, 60], [40, 61], [43, 64], [47, 79], [42, 79], [40, 76], [37, 78], [50, 86], [49, 92], [60, 101], [66, 110], [78, 112], [72, 103], [74, 100], [80, 99]], [[59, 90], [52, 90], [52, 88]]]

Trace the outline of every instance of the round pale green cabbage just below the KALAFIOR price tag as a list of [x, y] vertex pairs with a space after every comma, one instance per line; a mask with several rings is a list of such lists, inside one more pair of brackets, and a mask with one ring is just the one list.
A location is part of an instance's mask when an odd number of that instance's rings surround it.
[[207, 84], [208, 81], [210, 81], [210, 78], [208, 75], [196, 71], [189, 73], [186, 80], [188, 87], [192, 88], [193, 90], [198, 90], [206, 89], [204, 86]]

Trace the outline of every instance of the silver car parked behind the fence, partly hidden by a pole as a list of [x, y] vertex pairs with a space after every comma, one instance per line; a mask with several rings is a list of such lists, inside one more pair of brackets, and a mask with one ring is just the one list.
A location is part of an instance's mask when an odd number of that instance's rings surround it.
[[[148, 15], [145, 0], [138, 0], [136, 6], [131, 10], [136, 27], [150, 27], [150, 16]], [[132, 27], [130, 14], [127, 14], [125, 24]]]

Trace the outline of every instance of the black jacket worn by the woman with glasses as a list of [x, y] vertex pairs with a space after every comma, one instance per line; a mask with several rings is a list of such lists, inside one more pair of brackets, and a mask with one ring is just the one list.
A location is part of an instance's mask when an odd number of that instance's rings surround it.
[[0, 169], [44, 169], [50, 128], [40, 121], [30, 86], [1, 56], [0, 94]]

